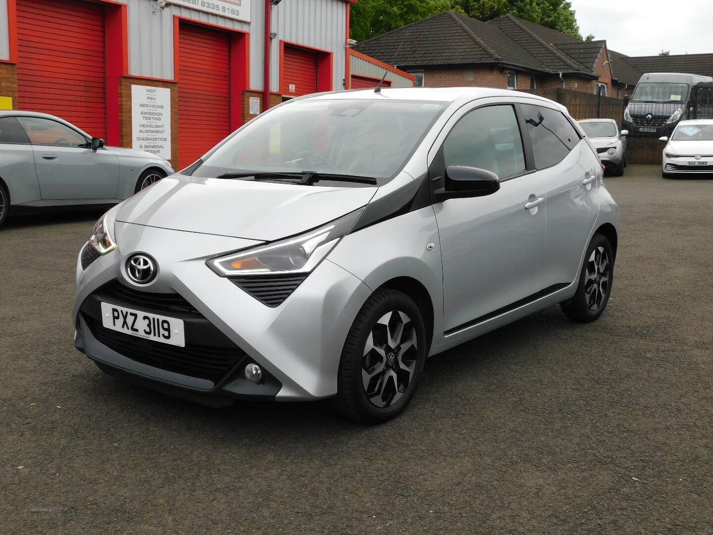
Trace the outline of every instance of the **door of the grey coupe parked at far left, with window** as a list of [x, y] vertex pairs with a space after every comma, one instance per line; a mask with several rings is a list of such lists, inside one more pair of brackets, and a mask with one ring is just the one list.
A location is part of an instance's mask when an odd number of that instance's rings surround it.
[[19, 117], [34, 149], [43, 200], [114, 199], [118, 188], [118, 158], [63, 123], [43, 117]]

